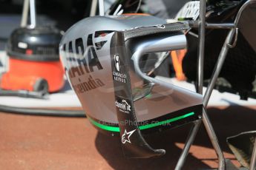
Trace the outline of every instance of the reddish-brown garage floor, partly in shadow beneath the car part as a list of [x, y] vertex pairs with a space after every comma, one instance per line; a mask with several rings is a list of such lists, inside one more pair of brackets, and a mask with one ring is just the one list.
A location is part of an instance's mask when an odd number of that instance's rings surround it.
[[[234, 160], [226, 137], [255, 130], [256, 112], [242, 106], [210, 108], [226, 158]], [[0, 169], [174, 169], [189, 125], [146, 137], [154, 148], [166, 149], [164, 157], [128, 160], [119, 139], [99, 134], [85, 118], [50, 118], [0, 114]], [[217, 167], [205, 129], [201, 128], [184, 169]]]

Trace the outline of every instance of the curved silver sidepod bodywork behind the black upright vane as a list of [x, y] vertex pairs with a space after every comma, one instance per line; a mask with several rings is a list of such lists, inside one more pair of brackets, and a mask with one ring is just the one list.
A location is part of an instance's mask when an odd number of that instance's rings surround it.
[[[110, 48], [111, 37], [114, 34], [111, 31], [157, 24], [165, 24], [165, 21], [153, 16], [96, 16], [79, 21], [65, 33], [59, 50], [62, 64], [65, 66], [66, 75], [79, 101], [91, 118], [107, 123], [118, 123], [114, 98], [114, 72], [111, 69]], [[83, 47], [81, 47], [81, 41]], [[172, 41], [174, 43], [170, 44]], [[175, 43], [180, 44], [175, 46]], [[171, 48], [173, 46], [175, 48]], [[145, 81], [154, 83], [149, 95], [134, 102], [139, 122], [203, 103], [202, 95], [157, 81], [155, 78], [145, 77], [138, 67], [142, 54], [184, 47], [186, 47], [185, 35], [163, 39], [153, 38], [152, 41], [138, 46], [137, 52], [131, 56], [129, 74], [132, 90], [140, 90]]]

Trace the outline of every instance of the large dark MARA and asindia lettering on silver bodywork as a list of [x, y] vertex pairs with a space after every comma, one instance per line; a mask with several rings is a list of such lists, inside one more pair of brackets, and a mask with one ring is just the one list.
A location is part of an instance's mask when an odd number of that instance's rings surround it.
[[63, 44], [62, 50], [67, 62], [65, 71], [68, 71], [69, 78], [76, 78], [79, 81], [79, 84], [72, 84], [76, 92], [84, 93], [105, 86], [99, 78], [90, 75], [96, 69], [103, 69], [93, 46], [93, 34], [88, 35], [86, 44], [82, 38], [76, 38], [74, 41]]

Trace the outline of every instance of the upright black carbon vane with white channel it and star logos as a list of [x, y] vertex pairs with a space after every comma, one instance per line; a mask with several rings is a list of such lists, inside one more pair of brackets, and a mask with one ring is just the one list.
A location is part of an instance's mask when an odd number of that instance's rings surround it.
[[152, 149], [141, 135], [134, 111], [127, 55], [123, 33], [116, 31], [111, 39], [111, 67], [123, 152], [128, 158], [161, 156], [165, 150]]

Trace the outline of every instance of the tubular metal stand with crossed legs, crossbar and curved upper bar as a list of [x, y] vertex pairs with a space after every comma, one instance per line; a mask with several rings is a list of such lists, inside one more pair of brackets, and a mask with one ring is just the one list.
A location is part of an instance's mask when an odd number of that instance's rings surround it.
[[[224, 170], [226, 169], [225, 165], [225, 158], [223, 157], [223, 152], [220, 149], [220, 145], [217, 140], [217, 136], [215, 135], [214, 129], [211, 125], [211, 121], [209, 120], [209, 117], [206, 113], [206, 106], [209, 103], [209, 98], [211, 96], [211, 92], [214, 89], [214, 84], [216, 83], [216, 80], [218, 76], [220, 75], [220, 71], [223, 67], [224, 61], [226, 59], [226, 55], [229, 52], [229, 48], [232, 48], [235, 46], [236, 41], [237, 41], [237, 34], [238, 34], [238, 28], [237, 24], [238, 21], [240, 20], [240, 16], [243, 12], [243, 10], [252, 3], [256, 3], [255, 0], [249, 0], [246, 1], [245, 4], [240, 8], [240, 10], [237, 13], [237, 17], [235, 18], [234, 24], [208, 24], [210, 27], [214, 26], [220, 29], [226, 29], [230, 28], [231, 30], [229, 31], [229, 34], [226, 37], [226, 41], [223, 44], [223, 48], [220, 51], [220, 55], [217, 59], [217, 64], [215, 64], [214, 71], [211, 75], [211, 81], [206, 89], [206, 93], [203, 98], [203, 124], [206, 127], [206, 131], [208, 132], [208, 135], [210, 137], [211, 143], [214, 146], [214, 149], [217, 153], [217, 157], [219, 160], [219, 166], [218, 169]], [[206, 1], [200, 0], [200, 41], [199, 41], [199, 50], [198, 50], [198, 69], [197, 69], [197, 92], [200, 94], [203, 93], [203, 58], [204, 58], [204, 42], [205, 42], [205, 29], [206, 29]], [[233, 41], [234, 38], [234, 42]], [[179, 161], [176, 166], [176, 170], [182, 169], [183, 164], [186, 160], [186, 156], [188, 154], [188, 151], [191, 147], [191, 144], [194, 141], [195, 135], [197, 135], [198, 129], [199, 129], [200, 123], [194, 123], [194, 126], [191, 129], [190, 134], [188, 135], [188, 139], [186, 140], [186, 145], [183, 149], [182, 154], [180, 155]], [[250, 165], [250, 170], [255, 170], [255, 163], [256, 163], [256, 140], [255, 140], [255, 148], [252, 153], [252, 159], [251, 159], [251, 165]]]

